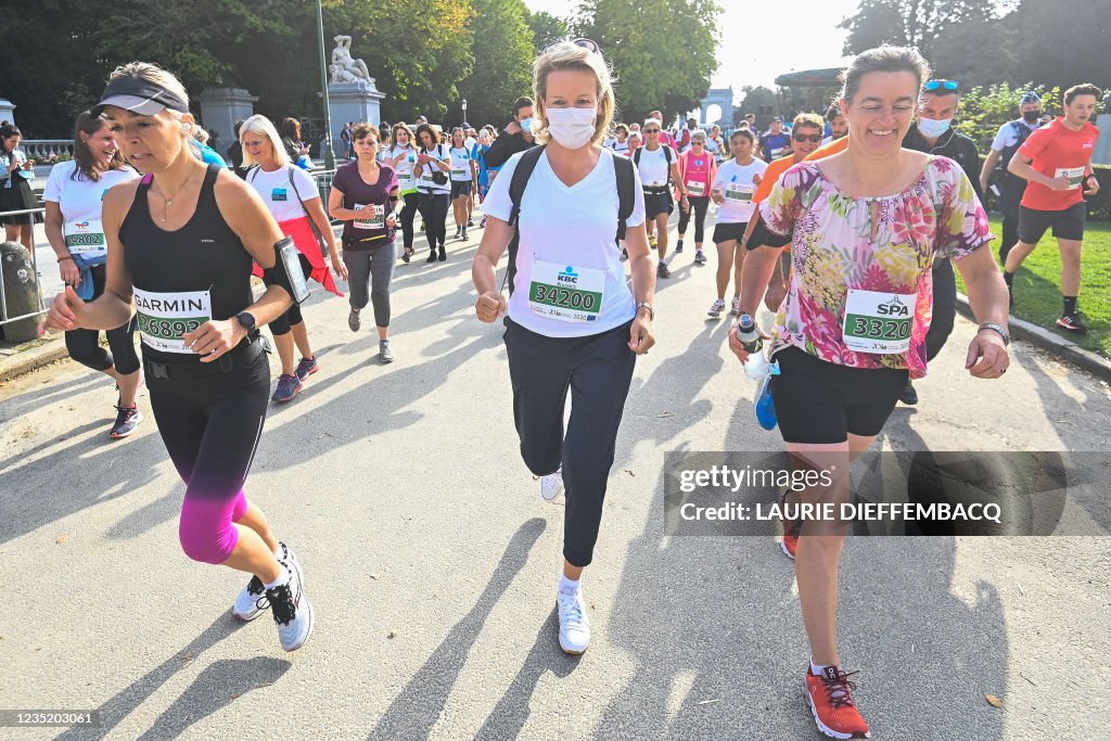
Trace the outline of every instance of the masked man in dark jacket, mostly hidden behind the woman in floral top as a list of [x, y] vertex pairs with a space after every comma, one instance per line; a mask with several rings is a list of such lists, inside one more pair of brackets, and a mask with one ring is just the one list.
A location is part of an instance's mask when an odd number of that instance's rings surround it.
[[[972, 190], [983, 203], [983, 191], [980, 190], [980, 153], [975, 142], [953, 129], [953, 119], [960, 106], [959, 84], [953, 80], [930, 80], [919, 101], [918, 121], [903, 137], [903, 147], [919, 152], [948, 157], [964, 170], [972, 181]], [[944, 258], [933, 259], [933, 321], [925, 336], [925, 358], [933, 358], [941, 352], [945, 340], [953, 331], [957, 319], [957, 279], [953, 276], [953, 264]], [[899, 398], [904, 404], [918, 403], [918, 392], [907, 381]]]

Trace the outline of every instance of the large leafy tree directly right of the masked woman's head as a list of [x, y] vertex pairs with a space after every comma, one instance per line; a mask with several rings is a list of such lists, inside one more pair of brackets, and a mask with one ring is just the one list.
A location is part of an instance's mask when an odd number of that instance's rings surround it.
[[714, 0], [584, 0], [572, 30], [597, 41], [613, 66], [621, 118], [661, 109], [670, 120], [710, 89], [720, 12]]

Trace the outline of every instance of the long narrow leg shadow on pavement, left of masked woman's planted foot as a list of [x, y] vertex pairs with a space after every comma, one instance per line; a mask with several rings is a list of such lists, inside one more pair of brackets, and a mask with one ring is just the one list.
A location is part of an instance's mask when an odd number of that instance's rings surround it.
[[[532, 518], [518, 528], [474, 607], [456, 623], [432, 655], [393, 699], [378, 725], [370, 732], [370, 739], [393, 741], [429, 738], [487, 618], [513, 578], [524, 568], [529, 552], [547, 527], [544, 520]], [[544, 627], [544, 630], [549, 629], [550, 625]], [[551, 637], [550, 630], [544, 634]], [[534, 654], [536, 651], [530, 653], [530, 658]], [[527, 662], [526, 668], [528, 667]]]

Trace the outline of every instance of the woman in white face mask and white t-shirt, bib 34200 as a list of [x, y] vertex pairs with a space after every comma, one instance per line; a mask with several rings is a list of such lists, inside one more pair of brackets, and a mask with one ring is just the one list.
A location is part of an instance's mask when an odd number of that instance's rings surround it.
[[[655, 342], [654, 266], [635, 168], [601, 147], [614, 103], [597, 44], [579, 39], [550, 47], [533, 63], [533, 89], [534, 130], [544, 147], [512, 157], [491, 187], [471, 272], [479, 320], [508, 313], [504, 341], [522, 458], [542, 477], [544, 500], [567, 491], [559, 640], [564, 652], [579, 654], [590, 642], [579, 580], [598, 539], [635, 358]], [[507, 247], [508, 301], [494, 276]]]

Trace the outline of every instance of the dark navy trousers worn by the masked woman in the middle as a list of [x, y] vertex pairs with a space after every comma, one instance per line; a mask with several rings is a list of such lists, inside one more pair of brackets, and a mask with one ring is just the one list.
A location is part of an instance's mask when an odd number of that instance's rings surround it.
[[[629, 349], [629, 324], [575, 338], [546, 337], [509, 319], [506, 324], [521, 458], [536, 475], [554, 473], [562, 464], [567, 485], [563, 557], [572, 565], [590, 565], [637, 362]], [[571, 421], [564, 435], [568, 390]]]

